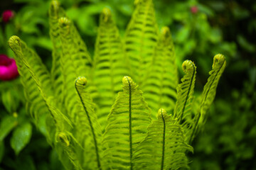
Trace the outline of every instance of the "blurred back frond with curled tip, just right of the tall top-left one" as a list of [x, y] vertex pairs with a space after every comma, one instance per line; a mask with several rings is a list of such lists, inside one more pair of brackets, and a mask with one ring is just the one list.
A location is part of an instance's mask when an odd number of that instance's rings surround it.
[[[75, 108], [77, 106], [76, 91], [73, 81], [80, 75], [89, 74], [90, 56], [85, 51], [85, 45], [78, 38], [77, 30], [68, 18], [59, 19], [60, 40], [62, 55], [60, 57], [63, 73], [63, 98], [67, 113], [71, 120], [75, 120]], [[91, 91], [90, 91], [91, 92]]]

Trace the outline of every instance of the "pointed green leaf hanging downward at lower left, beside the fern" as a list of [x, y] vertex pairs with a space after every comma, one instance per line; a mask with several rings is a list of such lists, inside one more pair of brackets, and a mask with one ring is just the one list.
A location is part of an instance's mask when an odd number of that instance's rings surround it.
[[11, 147], [14, 149], [16, 155], [26, 147], [31, 139], [32, 125], [30, 123], [24, 123], [14, 130], [11, 137]]

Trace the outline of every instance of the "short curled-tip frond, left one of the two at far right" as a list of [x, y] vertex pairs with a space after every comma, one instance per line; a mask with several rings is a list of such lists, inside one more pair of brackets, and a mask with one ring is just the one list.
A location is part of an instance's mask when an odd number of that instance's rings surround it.
[[181, 84], [177, 87], [177, 101], [174, 109], [174, 118], [178, 123], [191, 116], [191, 104], [193, 102], [193, 89], [196, 81], [196, 65], [190, 60], [186, 60], [182, 64], [184, 77]]

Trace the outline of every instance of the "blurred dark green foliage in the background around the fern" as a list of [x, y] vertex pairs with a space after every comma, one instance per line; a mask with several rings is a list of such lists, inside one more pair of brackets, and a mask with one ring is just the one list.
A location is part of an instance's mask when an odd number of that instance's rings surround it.
[[[0, 13], [6, 9], [15, 12], [9, 23], [1, 22], [0, 53], [13, 57], [7, 40], [18, 35], [50, 68], [50, 1], [14, 0], [0, 4]], [[121, 35], [134, 8], [130, 0], [62, 0], [61, 4], [91, 53], [102, 8], [111, 8]], [[222, 53], [228, 63], [206, 128], [193, 144], [191, 169], [256, 169], [256, 2], [161, 0], [154, 4], [159, 28], [171, 28], [176, 62], [181, 65], [188, 59], [198, 65], [198, 89], [205, 84], [213, 55]], [[31, 124], [21, 89], [19, 79], [0, 82], [0, 169], [61, 169], [56, 154]], [[20, 132], [24, 135], [18, 136]], [[19, 143], [14, 142], [17, 137]]]

